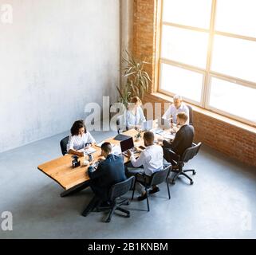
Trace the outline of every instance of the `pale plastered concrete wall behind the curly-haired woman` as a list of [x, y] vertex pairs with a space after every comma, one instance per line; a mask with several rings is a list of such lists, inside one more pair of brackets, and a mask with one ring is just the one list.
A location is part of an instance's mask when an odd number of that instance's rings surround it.
[[119, 0], [0, 0], [0, 152], [69, 130], [85, 104], [116, 100]]

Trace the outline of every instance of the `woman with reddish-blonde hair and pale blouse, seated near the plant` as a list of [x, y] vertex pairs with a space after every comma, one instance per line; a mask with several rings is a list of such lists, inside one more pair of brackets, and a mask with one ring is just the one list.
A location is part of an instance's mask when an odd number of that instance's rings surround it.
[[131, 104], [129, 104], [129, 110], [126, 112], [126, 126], [130, 128], [141, 128], [141, 125], [146, 118], [141, 108], [141, 100], [138, 96], [132, 97]]

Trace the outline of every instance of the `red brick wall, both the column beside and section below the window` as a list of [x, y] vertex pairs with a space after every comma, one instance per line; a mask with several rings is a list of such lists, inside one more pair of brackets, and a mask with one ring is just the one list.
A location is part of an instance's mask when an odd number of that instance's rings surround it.
[[[159, 0], [134, 0], [134, 41], [133, 51], [137, 57], [151, 57], [151, 65], [147, 71], [154, 80], [155, 56], [156, 56], [156, 6]], [[152, 84], [153, 92], [155, 84]], [[158, 96], [147, 94], [144, 97], [146, 102], [160, 102], [166, 100]], [[256, 167], [256, 132], [247, 131], [245, 128], [238, 128], [226, 121], [219, 120], [214, 116], [194, 111], [195, 141], [201, 141], [217, 151], [222, 152], [243, 163]]]

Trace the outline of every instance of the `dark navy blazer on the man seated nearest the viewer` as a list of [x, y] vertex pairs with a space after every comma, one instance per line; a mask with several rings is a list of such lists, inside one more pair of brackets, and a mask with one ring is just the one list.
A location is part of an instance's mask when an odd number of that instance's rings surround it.
[[111, 186], [126, 179], [123, 156], [108, 155], [107, 159], [99, 164], [96, 171], [89, 168], [89, 178], [90, 186], [96, 196], [107, 201]]

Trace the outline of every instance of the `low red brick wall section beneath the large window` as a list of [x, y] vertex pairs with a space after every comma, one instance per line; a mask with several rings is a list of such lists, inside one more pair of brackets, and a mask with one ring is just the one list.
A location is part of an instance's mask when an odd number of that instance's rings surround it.
[[[147, 102], [161, 103], [163, 115], [164, 103], [168, 101], [146, 94], [144, 103]], [[227, 124], [213, 116], [198, 112], [196, 109], [193, 111], [193, 125], [196, 143], [202, 142], [225, 155], [256, 167], [256, 135], [254, 132]]]

